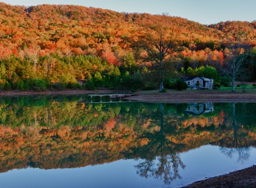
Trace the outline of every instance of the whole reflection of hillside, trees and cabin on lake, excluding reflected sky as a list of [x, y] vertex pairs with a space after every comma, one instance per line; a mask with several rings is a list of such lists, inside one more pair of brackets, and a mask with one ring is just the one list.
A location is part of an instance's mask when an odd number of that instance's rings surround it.
[[[238, 161], [255, 147], [255, 103], [85, 103], [73, 97], [2, 98], [0, 170], [77, 168], [137, 159], [139, 176], [167, 185], [180, 153], [211, 144]], [[188, 113], [188, 111], [193, 111]], [[209, 161], [210, 162], [210, 161]]]

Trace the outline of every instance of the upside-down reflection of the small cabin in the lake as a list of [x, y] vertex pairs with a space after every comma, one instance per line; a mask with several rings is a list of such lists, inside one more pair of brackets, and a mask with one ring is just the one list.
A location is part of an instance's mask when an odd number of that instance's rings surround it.
[[188, 104], [184, 114], [201, 115], [213, 112], [213, 103], [192, 103]]

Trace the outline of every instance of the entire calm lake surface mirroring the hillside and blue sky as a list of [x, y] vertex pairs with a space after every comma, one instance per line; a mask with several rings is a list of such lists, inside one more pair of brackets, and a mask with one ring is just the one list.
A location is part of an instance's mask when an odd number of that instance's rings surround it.
[[1, 98], [1, 187], [181, 187], [256, 165], [256, 103]]

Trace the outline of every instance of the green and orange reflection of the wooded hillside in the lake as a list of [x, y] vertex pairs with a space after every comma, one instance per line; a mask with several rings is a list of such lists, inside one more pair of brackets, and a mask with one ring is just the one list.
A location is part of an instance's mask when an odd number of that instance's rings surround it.
[[[152, 136], [172, 144], [172, 153], [166, 154], [174, 156], [208, 143], [232, 147], [234, 142], [234, 129], [225, 121], [233, 114], [232, 105], [227, 104], [215, 105], [214, 116], [209, 117], [184, 116], [183, 106], [168, 104], [164, 105], [160, 119], [156, 115], [159, 104], [93, 106], [80, 105], [76, 101], [42, 104], [22, 106], [9, 102], [0, 105], [1, 172], [27, 166], [76, 168], [121, 158], [146, 158], [142, 152], [131, 151], [143, 151], [154, 141]], [[254, 107], [248, 105], [246, 108], [251, 124], [241, 123], [244, 116], [238, 107], [236, 118], [241, 125], [237, 136], [243, 135], [246, 146], [255, 147], [255, 117], [250, 110]], [[159, 122], [162, 120], [164, 126], [161, 128]], [[244, 147], [243, 144], [240, 147]], [[151, 151], [156, 148], [158, 145], [151, 147]], [[151, 151], [148, 153], [153, 153]], [[161, 156], [161, 149], [158, 151], [151, 157]]]

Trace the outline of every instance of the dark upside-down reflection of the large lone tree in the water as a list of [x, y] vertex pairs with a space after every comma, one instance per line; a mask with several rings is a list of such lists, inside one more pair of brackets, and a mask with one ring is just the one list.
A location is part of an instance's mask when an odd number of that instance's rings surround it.
[[142, 139], [148, 139], [148, 143], [135, 150], [134, 154], [139, 155], [144, 160], [135, 168], [137, 168], [139, 176], [163, 179], [164, 183], [170, 184], [173, 179], [181, 178], [179, 167], [185, 168], [178, 152], [185, 145], [168, 139], [164, 129], [170, 125], [164, 123], [167, 121], [164, 121], [163, 104], [160, 104], [160, 110], [157, 114], [160, 115], [160, 120], [155, 120], [154, 123], [159, 124], [160, 130], [154, 133], [146, 132], [141, 136]]

